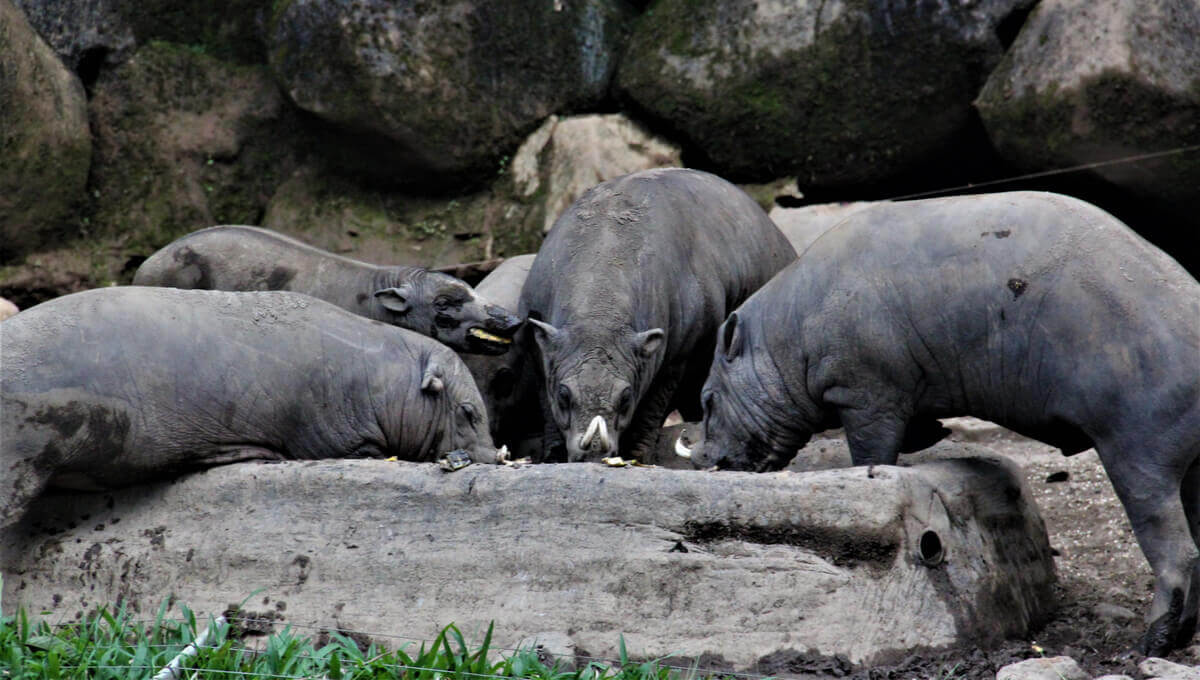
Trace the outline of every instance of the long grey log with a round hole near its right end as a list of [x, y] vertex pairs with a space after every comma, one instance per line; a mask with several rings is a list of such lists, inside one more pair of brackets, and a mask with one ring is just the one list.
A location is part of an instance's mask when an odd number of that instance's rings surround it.
[[263, 589], [253, 607], [295, 626], [454, 621], [478, 642], [494, 621], [498, 648], [557, 630], [594, 656], [624, 636], [635, 656], [742, 668], [1022, 636], [1054, 583], [1028, 489], [988, 458], [803, 475], [229, 465], [43, 498], [0, 534], [0, 571], [6, 610], [54, 621], [172, 596], [204, 615]]

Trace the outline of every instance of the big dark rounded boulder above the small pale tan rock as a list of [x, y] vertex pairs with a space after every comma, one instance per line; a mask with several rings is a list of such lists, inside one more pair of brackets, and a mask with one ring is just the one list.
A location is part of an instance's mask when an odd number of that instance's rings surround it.
[[479, 179], [547, 115], [607, 96], [632, 17], [623, 0], [286, 0], [269, 60], [296, 106], [342, 133], [347, 167]]

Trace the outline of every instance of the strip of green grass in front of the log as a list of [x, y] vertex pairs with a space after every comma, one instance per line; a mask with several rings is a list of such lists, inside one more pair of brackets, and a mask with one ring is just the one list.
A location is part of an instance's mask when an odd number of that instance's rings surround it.
[[[290, 628], [268, 638], [265, 649], [246, 649], [235, 626], [198, 621], [181, 607], [182, 619], [167, 618], [163, 603], [152, 621], [136, 620], [124, 608], [101, 609], [79, 622], [50, 626], [31, 622], [22, 610], [0, 615], [0, 680], [145, 680], [166, 667], [205, 628], [208, 644], [184, 662], [180, 679], [284, 680], [696, 680], [689, 672], [662, 666], [662, 660], [632, 662], [620, 640], [620, 660], [608, 666], [593, 662], [563, 672], [542, 664], [535, 654], [499, 655], [491, 648], [492, 628], [474, 650], [454, 625], [428, 646], [421, 643], [384, 649], [372, 643], [362, 649], [353, 639], [329, 633], [319, 645]], [[234, 622], [236, 624], [236, 621]]]

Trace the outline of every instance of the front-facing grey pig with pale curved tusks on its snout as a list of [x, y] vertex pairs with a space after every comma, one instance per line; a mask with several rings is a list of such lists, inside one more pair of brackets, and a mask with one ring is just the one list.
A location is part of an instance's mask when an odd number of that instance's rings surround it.
[[568, 461], [638, 457], [672, 407], [698, 417], [718, 325], [794, 259], [758, 204], [708, 173], [646, 170], [584, 193], [518, 308], [541, 355], [547, 450], [557, 435]]

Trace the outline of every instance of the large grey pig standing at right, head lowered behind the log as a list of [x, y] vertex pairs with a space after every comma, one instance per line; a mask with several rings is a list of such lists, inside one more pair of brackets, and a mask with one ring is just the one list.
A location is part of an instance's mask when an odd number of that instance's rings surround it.
[[1112, 216], [1012, 192], [876, 206], [722, 325], [695, 465], [773, 470], [840, 423], [856, 464], [972, 415], [1092, 446], [1154, 571], [1139, 644], [1200, 609], [1200, 283]]

